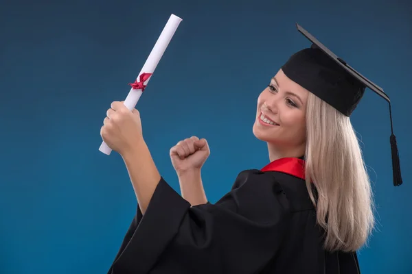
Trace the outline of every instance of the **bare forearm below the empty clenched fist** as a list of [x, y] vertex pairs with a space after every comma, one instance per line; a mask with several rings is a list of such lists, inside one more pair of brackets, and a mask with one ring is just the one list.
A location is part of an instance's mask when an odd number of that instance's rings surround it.
[[179, 174], [178, 177], [183, 199], [192, 206], [207, 203], [200, 169], [187, 171], [186, 173]]

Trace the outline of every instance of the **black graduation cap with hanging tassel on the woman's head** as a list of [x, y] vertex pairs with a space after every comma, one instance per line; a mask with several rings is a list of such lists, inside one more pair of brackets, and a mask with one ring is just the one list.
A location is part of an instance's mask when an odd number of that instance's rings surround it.
[[378, 85], [358, 73], [342, 58], [325, 47], [319, 40], [309, 34], [296, 23], [298, 32], [312, 42], [310, 48], [302, 49], [293, 54], [282, 66], [285, 75], [300, 86], [303, 86], [320, 99], [332, 105], [339, 112], [350, 116], [356, 105], [361, 101], [366, 88], [389, 103], [391, 119], [391, 154], [393, 168], [393, 185], [400, 186], [400, 161], [396, 136], [393, 134], [391, 100]]

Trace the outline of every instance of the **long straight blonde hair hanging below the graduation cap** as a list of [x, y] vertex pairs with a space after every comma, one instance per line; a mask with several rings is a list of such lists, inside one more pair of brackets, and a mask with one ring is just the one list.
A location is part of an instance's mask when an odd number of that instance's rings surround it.
[[[309, 92], [306, 187], [325, 229], [325, 249], [356, 251], [374, 227], [371, 184], [349, 117]], [[311, 181], [317, 189], [317, 199]]]

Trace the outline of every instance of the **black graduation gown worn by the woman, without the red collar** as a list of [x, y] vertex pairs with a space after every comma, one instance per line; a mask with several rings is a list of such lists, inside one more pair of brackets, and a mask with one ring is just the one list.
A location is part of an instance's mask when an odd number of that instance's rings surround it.
[[242, 171], [218, 202], [191, 207], [162, 177], [108, 273], [360, 273], [356, 253], [325, 252], [322, 236], [303, 179]]

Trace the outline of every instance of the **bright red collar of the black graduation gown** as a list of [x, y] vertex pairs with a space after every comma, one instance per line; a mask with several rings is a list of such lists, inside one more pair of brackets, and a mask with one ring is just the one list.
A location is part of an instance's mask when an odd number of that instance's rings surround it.
[[304, 166], [305, 161], [299, 158], [281, 158], [267, 164], [261, 171], [279, 171], [305, 179]]

